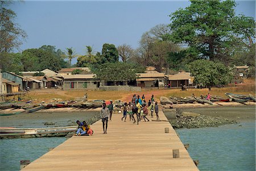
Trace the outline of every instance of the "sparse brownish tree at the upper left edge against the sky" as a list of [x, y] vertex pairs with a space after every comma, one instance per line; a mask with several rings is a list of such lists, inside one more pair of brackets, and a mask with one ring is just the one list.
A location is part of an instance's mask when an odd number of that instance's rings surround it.
[[[17, 23], [14, 23], [16, 14], [13, 10], [6, 9], [11, 1], [0, 1], [0, 52], [7, 53], [18, 49], [27, 35]], [[1, 54], [0, 57], [2, 57]]]

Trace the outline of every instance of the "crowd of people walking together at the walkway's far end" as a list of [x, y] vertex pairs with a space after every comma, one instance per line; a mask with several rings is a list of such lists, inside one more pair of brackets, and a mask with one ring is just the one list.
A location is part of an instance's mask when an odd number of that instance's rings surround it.
[[136, 123], [134, 115], [137, 116], [137, 124], [139, 124], [139, 121], [141, 121], [142, 119], [144, 119], [145, 122], [148, 122], [150, 121], [147, 118], [147, 115], [149, 114], [148, 110], [151, 111], [151, 118], [153, 118], [154, 109], [156, 113], [156, 119], [159, 120], [158, 102], [155, 101], [154, 95], [152, 95], [151, 99], [148, 100], [147, 105], [144, 94], [142, 95], [142, 97], [140, 97], [139, 95], [136, 96], [136, 94], [134, 94], [131, 102], [129, 102], [129, 104], [125, 102], [125, 104], [123, 105], [123, 117], [121, 120], [124, 119], [124, 121], [126, 122], [126, 116], [127, 114], [129, 114], [130, 121], [133, 120], [133, 123]]

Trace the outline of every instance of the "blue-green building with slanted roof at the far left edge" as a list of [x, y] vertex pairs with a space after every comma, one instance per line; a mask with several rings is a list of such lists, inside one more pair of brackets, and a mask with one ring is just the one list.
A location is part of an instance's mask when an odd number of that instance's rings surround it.
[[2, 78], [5, 78], [6, 80], [9, 80], [11, 82], [15, 82], [16, 84], [18, 84], [18, 89], [19, 90], [23, 90], [26, 87], [26, 84], [24, 82], [24, 77], [19, 76], [17, 74], [7, 72], [7, 71], [3, 71], [2, 72]]

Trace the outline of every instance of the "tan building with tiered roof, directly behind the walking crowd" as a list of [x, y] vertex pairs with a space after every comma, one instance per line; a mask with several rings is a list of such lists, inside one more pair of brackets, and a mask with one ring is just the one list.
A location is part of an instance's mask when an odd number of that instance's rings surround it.
[[147, 70], [146, 73], [137, 73], [137, 86], [140, 87], [164, 87], [164, 73], [156, 70]]

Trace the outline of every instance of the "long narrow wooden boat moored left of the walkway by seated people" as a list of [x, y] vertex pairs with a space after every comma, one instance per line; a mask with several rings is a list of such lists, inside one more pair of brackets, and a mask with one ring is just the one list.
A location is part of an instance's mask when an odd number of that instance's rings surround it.
[[0, 127], [0, 139], [65, 136], [76, 131], [77, 126], [54, 128], [11, 128]]

